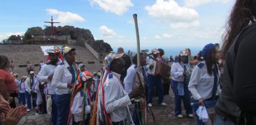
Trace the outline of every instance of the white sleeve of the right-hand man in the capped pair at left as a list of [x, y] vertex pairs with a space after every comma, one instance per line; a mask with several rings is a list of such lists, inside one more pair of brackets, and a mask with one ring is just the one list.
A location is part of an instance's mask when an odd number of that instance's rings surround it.
[[64, 75], [64, 66], [58, 65], [55, 68], [55, 73], [52, 78], [52, 87], [55, 88], [67, 88], [68, 83], [62, 82], [62, 75]]

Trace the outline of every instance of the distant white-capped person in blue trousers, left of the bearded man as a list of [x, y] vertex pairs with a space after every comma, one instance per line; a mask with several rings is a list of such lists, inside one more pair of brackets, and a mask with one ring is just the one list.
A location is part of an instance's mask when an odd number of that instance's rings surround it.
[[25, 96], [27, 99], [27, 112], [31, 110], [31, 96], [32, 96], [32, 105], [33, 108], [36, 108], [36, 76], [34, 75], [34, 71], [29, 72], [29, 78], [25, 81]]

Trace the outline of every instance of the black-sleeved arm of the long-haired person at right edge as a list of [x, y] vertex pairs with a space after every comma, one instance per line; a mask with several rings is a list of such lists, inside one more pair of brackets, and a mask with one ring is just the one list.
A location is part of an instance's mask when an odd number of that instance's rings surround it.
[[256, 33], [241, 40], [234, 66], [234, 96], [241, 110], [256, 115]]

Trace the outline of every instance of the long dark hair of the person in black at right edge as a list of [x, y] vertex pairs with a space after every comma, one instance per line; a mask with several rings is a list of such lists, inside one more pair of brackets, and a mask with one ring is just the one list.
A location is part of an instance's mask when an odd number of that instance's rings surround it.
[[232, 45], [234, 38], [239, 32], [248, 26], [250, 22], [255, 22], [256, 15], [256, 1], [255, 0], [236, 0], [232, 8], [232, 12], [229, 15], [228, 26], [225, 34], [223, 34], [223, 45], [222, 45], [222, 59], [225, 58], [227, 50]]

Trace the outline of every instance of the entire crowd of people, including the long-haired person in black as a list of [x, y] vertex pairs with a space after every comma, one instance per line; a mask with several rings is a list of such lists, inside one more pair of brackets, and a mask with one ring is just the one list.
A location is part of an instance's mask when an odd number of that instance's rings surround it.
[[[0, 56], [0, 124], [17, 124], [36, 108], [37, 114], [49, 113], [52, 124], [58, 125], [142, 125], [148, 108], [169, 105], [164, 102], [169, 86], [178, 118], [183, 117], [183, 101], [187, 117], [195, 117], [199, 125], [256, 124], [255, 5], [236, 0], [222, 50], [218, 43], [209, 43], [194, 57], [186, 48], [168, 60], [164, 50], [152, 49], [131, 59], [120, 47], [116, 54], [106, 53], [104, 67], [91, 73], [76, 64], [75, 48], [55, 46], [47, 50], [48, 61], [41, 62], [37, 75], [28, 62], [28, 75], [19, 80], [9, 72], [13, 62]], [[169, 61], [168, 78], [155, 73], [157, 64]], [[23, 106], [16, 107], [17, 95]], [[158, 96], [157, 104], [153, 95]]]

